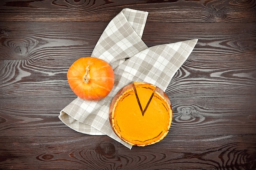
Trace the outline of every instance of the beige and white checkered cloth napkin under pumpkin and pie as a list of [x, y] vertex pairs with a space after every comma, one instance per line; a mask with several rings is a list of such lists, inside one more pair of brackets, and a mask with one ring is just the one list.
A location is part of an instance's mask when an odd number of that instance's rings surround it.
[[108, 62], [115, 73], [110, 94], [100, 101], [79, 97], [61, 110], [59, 118], [70, 128], [89, 135], [108, 135], [128, 148], [113, 132], [108, 110], [112, 98], [132, 82], [148, 82], [166, 90], [171, 78], [194, 49], [198, 39], [148, 47], [141, 40], [148, 12], [123, 9], [97, 42], [92, 57]]

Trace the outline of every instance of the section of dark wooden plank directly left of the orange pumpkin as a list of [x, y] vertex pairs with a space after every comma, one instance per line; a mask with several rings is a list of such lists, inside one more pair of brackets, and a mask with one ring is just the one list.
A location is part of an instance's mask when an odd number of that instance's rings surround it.
[[[75, 97], [67, 83], [70, 60], [0, 60], [0, 97]], [[9, 95], [8, 95], [9, 94]], [[45, 95], [44, 95], [45, 94]]]

